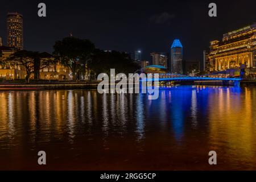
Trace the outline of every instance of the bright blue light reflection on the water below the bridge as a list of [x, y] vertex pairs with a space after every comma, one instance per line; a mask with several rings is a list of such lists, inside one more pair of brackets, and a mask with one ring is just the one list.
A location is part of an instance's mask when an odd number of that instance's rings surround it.
[[171, 122], [171, 130], [178, 142], [182, 140], [185, 122], [191, 122], [192, 127], [196, 127], [199, 121], [208, 122], [209, 98], [221, 92], [233, 94], [236, 100], [240, 100], [242, 89], [237, 86], [163, 86], [159, 89], [158, 100], [146, 100], [144, 107], [151, 105], [147, 118], [158, 115], [160, 121], [164, 117], [164, 121]]

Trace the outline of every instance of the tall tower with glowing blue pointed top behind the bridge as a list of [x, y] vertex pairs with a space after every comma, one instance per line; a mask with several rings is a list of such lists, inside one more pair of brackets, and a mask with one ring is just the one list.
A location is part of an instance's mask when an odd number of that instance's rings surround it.
[[183, 46], [175, 39], [171, 46], [171, 72], [183, 74]]

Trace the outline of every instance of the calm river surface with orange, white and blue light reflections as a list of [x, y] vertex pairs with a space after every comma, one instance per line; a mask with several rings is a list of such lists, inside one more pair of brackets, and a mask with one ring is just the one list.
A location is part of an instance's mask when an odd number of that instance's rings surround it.
[[256, 88], [0, 92], [0, 169], [255, 170], [255, 115]]

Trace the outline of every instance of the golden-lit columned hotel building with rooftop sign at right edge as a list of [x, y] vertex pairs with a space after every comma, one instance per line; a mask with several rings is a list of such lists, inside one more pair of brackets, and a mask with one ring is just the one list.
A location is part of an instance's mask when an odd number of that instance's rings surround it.
[[210, 42], [210, 71], [256, 67], [256, 23], [223, 35]]

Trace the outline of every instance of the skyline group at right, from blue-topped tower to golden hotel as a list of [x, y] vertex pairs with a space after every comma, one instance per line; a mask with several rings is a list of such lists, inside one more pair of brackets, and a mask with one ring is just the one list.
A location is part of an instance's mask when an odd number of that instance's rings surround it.
[[[186, 63], [183, 58], [183, 46], [179, 39], [175, 39], [172, 43], [170, 56], [168, 53], [159, 52], [152, 52], [150, 55], [152, 65], [165, 67], [166, 71], [177, 74], [187, 74], [188, 67], [192, 73], [199, 70], [201, 73], [209, 73], [231, 68], [255, 68], [256, 23], [224, 34], [221, 41], [210, 42], [209, 49], [203, 51], [201, 60], [198, 62]], [[200, 69], [197, 70], [195, 67]]]

